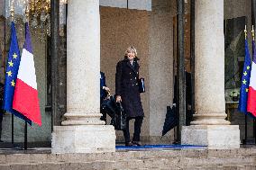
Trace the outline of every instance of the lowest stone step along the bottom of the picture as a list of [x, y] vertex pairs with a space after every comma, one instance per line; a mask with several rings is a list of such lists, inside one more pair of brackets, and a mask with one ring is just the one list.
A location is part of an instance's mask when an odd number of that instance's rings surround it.
[[222, 167], [232, 168], [240, 166], [251, 166], [256, 167], [255, 157], [234, 157], [234, 158], [187, 158], [187, 157], [177, 157], [177, 158], [147, 158], [147, 159], [123, 159], [116, 161], [105, 161], [105, 160], [95, 160], [91, 162], [80, 161], [80, 162], [37, 162], [30, 164], [23, 163], [13, 163], [13, 164], [2, 164], [0, 169], [139, 169], [139, 168], [160, 168], [160, 169], [189, 169], [191, 167], [197, 169], [215, 168]]

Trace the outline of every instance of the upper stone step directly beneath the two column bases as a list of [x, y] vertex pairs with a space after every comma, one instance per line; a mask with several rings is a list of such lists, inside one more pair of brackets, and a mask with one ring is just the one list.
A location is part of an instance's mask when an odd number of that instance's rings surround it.
[[[22, 157], [21, 157], [22, 156]], [[209, 158], [209, 157], [254, 157], [256, 148], [240, 148], [229, 150], [182, 149], [182, 150], [149, 150], [149, 151], [122, 151], [101, 154], [0, 154], [0, 164], [34, 162], [90, 162], [96, 160], [118, 161], [124, 159], [147, 158]]]

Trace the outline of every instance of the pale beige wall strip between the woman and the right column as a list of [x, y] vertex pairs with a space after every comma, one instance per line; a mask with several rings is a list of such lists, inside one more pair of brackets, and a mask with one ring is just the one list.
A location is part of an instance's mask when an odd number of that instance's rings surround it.
[[[161, 136], [167, 106], [173, 99], [173, 35], [172, 11], [168, 0], [153, 1], [150, 19], [150, 136]], [[173, 135], [167, 134], [171, 142]], [[164, 139], [166, 140], [166, 139]]]

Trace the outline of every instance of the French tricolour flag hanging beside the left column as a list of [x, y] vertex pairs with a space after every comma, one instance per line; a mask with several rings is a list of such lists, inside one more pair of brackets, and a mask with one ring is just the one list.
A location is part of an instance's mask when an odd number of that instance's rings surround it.
[[32, 40], [28, 22], [25, 23], [25, 43], [14, 90], [13, 108], [41, 126], [41, 113], [32, 55]]

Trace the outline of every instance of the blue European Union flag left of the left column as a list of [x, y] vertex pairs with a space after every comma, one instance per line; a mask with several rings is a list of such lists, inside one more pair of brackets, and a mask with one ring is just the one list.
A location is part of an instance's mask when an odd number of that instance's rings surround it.
[[14, 22], [12, 22], [11, 31], [11, 44], [8, 53], [7, 66], [5, 69], [6, 75], [3, 109], [7, 112], [13, 113], [15, 116], [22, 118], [24, 121], [27, 121], [31, 124], [32, 121], [23, 116], [22, 113], [17, 112], [13, 109], [14, 87], [21, 61], [20, 49], [18, 45]]

